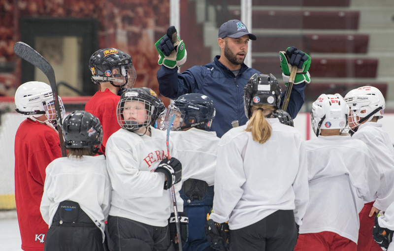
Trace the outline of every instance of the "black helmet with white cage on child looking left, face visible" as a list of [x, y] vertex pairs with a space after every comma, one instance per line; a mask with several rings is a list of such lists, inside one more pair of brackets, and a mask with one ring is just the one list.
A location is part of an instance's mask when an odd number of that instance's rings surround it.
[[121, 95], [117, 106], [118, 124], [129, 131], [153, 126], [165, 109], [162, 100], [150, 88], [131, 88]]

